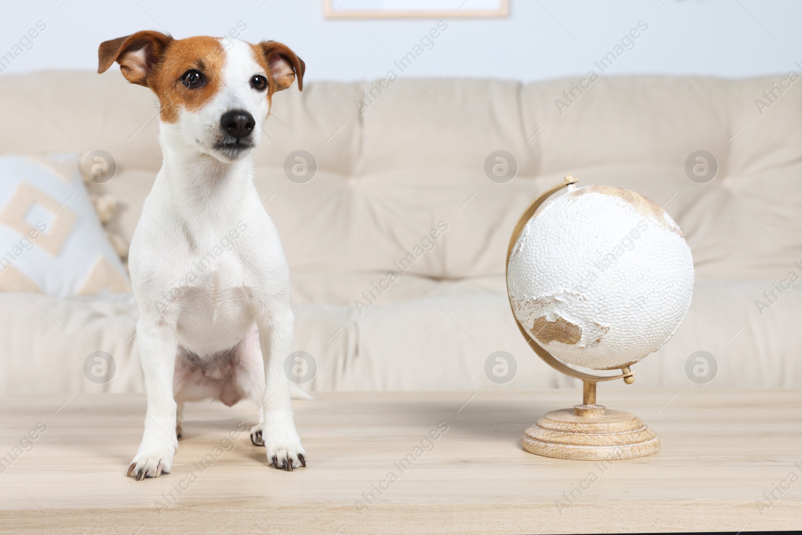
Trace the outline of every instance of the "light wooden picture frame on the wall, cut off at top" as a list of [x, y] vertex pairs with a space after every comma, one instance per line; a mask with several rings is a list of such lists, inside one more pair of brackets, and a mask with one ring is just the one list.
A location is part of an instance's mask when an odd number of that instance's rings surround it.
[[323, 0], [326, 18], [506, 17], [509, 0]]

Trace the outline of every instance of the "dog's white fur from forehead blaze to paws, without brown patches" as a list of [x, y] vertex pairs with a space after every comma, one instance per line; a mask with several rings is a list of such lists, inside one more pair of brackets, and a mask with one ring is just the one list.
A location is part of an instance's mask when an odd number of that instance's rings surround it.
[[[160, 125], [164, 164], [131, 243], [148, 391], [144, 435], [129, 469], [138, 479], [170, 472], [176, 412], [190, 400], [253, 399], [263, 407], [254, 432], [262, 431], [268, 462], [277, 459], [281, 468], [290, 460], [298, 468], [298, 456], [305, 455], [283, 367], [294, 318], [282, 245], [253, 187], [249, 151], [232, 160], [213, 148], [225, 111], [251, 113], [256, 143], [269, 113], [265, 93], [249, 84], [265, 73], [246, 43], [233, 43], [225, 51], [224, 86], [213, 100]], [[225, 237], [230, 249], [221, 247]], [[205, 269], [197, 264], [203, 258]]]

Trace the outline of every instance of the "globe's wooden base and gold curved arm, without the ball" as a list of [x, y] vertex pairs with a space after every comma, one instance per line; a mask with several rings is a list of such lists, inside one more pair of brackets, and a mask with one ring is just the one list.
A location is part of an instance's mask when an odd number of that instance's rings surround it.
[[[535, 199], [521, 215], [512, 231], [507, 249], [507, 265], [509, 265], [512, 247], [518, 241], [526, 223], [537, 212], [537, 209], [562, 188], [573, 188], [577, 183], [573, 176], [565, 176], [561, 184], [547, 189]], [[512, 307], [512, 302], [510, 302]], [[512, 316], [515, 317], [513, 309]], [[620, 375], [590, 375], [584, 371], [574, 370], [567, 364], [557, 360], [537, 343], [516, 318], [516, 324], [524, 335], [529, 347], [557, 371], [582, 380], [582, 404], [573, 409], [550, 411], [528, 428], [521, 439], [527, 452], [540, 456], [571, 460], [621, 460], [649, 456], [658, 451], [660, 441], [657, 435], [637, 416], [625, 411], [608, 411], [603, 405], [596, 404], [596, 384], [599, 381], [624, 379], [624, 383], [634, 382], [634, 371], [628, 363], [621, 367]]]

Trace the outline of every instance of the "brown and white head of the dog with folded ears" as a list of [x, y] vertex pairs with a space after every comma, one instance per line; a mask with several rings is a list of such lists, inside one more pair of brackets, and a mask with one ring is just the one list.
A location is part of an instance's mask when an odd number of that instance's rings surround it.
[[256, 146], [273, 93], [290, 87], [296, 76], [301, 90], [305, 69], [290, 48], [275, 41], [172, 39], [150, 30], [101, 43], [98, 60], [98, 72], [116, 61], [129, 82], [156, 93], [161, 120], [176, 128], [170, 139], [177, 136], [224, 162]]

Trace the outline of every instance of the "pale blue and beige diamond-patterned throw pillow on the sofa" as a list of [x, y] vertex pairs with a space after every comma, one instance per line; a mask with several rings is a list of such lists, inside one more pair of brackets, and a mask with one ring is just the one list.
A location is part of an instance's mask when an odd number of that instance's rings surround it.
[[78, 156], [0, 156], [0, 291], [127, 294]]

